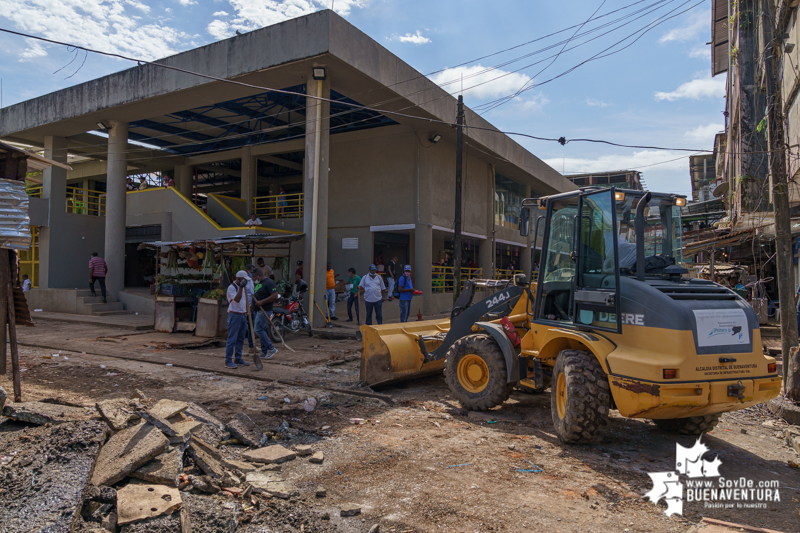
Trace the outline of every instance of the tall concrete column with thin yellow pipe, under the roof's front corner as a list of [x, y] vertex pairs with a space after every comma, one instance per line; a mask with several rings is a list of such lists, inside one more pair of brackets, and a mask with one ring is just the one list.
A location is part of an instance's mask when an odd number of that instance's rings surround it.
[[[305, 233], [303, 276], [309, 283], [308, 311], [313, 313], [314, 326], [324, 324], [316, 301], [325, 310], [325, 264], [328, 261], [328, 171], [330, 170], [330, 103], [311, 98], [330, 98], [329, 78], [318, 81], [307, 77], [306, 146], [303, 167], [303, 232]], [[316, 198], [314, 191], [316, 190]], [[315, 215], [316, 212], [316, 215]], [[314, 253], [312, 254], [312, 247]], [[314, 261], [312, 263], [312, 255]], [[313, 279], [313, 283], [312, 283]], [[342, 306], [339, 306], [341, 309]], [[312, 311], [313, 310], [313, 311]]]

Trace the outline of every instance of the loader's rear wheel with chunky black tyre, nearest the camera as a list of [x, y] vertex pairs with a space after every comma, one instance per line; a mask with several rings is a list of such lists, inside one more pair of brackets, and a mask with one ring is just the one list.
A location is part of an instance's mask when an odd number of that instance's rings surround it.
[[562, 350], [553, 367], [550, 389], [553, 425], [562, 442], [602, 440], [611, 393], [608, 377], [594, 355], [583, 350]]

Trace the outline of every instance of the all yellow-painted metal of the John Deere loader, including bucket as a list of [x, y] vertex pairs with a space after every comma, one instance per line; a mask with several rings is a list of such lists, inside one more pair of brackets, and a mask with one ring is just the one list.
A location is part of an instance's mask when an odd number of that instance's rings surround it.
[[[535, 291], [535, 284], [531, 286]], [[736, 353], [735, 362], [720, 363], [721, 355], [698, 355], [691, 331], [623, 325], [622, 333], [595, 333], [530, 322], [523, 294], [509, 318], [522, 338], [523, 357], [536, 357], [552, 368], [562, 350], [591, 352], [608, 375], [611, 395], [620, 414], [631, 418], [685, 418], [743, 409], [776, 397], [781, 378], [770, 374], [773, 357], [760, 352], [761, 332], [752, 332], [752, 353]], [[441, 344], [450, 321], [436, 320], [382, 326], [362, 326], [361, 379], [373, 385], [441, 372], [444, 360], [424, 363], [420, 340], [430, 352]], [[477, 326], [473, 331], [479, 331]], [[462, 385], [479, 389], [484, 376], [477, 363], [459, 367]], [[675, 369], [664, 379], [664, 369]], [[461, 379], [463, 378], [463, 379]], [[526, 380], [526, 383], [532, 383]], [[744, 387], [743, 399], [728, 395], [728, 386]], [[485, 385], [484, 385], [485, 386]], [[552, 384], [556, 390], [563, 384]], [[561, 386], [561, 389], [559, 387]], [[557, 398], [558, 400], [558, 398]], [[564, 399], [564, 401], [566, 401]], [[559, 411], [566, 409], [558, 401]]]

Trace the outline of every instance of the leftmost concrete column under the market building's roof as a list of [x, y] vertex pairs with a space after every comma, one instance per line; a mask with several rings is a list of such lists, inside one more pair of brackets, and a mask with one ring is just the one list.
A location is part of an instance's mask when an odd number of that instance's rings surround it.
[[[66, 163], [67, 140], [50, 135], [45, 137], [44, 156], [59, 163]], [[63, 248], [67, 237], [65, 227], [67, 171], [65, 169], [50, 167], [44, 171], [42, 198], [50, 201], [50, 213], [48, 225], [39, 228], [39, 287], [53, 289], [61, 286], [58, 276], [64, 265], [60, 262], [64, 259], [62, 253], [66, 253], [66, 248]], [[86, 262], [88, 263], [88, 261], [87, 259]], [[88, 280], [87, 276], [84, 277]]]

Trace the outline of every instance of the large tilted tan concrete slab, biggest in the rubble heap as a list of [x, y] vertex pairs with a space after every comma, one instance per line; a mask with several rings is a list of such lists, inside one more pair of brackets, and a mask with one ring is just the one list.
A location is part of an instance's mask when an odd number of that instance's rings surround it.
[[167, 450], [169, 441], [152, 424], [142, 422], [123, 429], [100, 450], [92, 483], [113, 485]]

